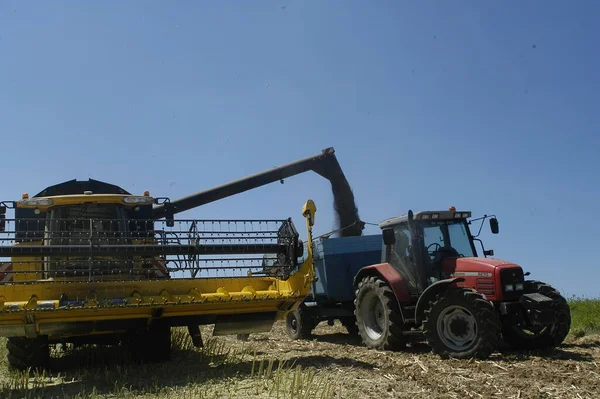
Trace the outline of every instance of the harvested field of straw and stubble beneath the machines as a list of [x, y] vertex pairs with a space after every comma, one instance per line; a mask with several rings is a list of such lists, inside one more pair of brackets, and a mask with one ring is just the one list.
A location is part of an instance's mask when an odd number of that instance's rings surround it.
[[67, 349], [48, 375], [9, 372], [0, 350], [2, 398], [597, 398], [600, 337], [569, 338], [548, 353], [494, 353], [486, 361], [441, 360], [425, 345], [368, 350], [338, 325], [311, 341], [272, 334], [210, 337], [195, 349], [186, 330], [167, 363], [135, 366], [118, 348]]

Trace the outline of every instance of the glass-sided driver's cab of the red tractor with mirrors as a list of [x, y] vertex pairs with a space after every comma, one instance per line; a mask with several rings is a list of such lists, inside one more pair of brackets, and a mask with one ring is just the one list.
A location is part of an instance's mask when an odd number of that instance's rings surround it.
[[[453, 260], [478, 256], [478, 239], [471, 234], [467, 220], [470, 217], [471, 212], [451, 207], [447, 211], [409, 211], [380, 224], [384, 241], [382, 261], [403, 276], [411, 296], [419, 296], [429, 285], [442, 280], [443, 270]], [[490, 227], [492, 233], [498, 233], [495, 217], [490, 218]], [[487, 256], [493, 251], [484, 249], [483, 253]]]

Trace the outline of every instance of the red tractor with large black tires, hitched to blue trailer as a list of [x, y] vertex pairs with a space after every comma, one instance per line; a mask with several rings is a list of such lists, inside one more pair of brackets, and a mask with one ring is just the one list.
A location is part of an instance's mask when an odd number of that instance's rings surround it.
[[[488, 258], [477, 238], [489, 219], [468, 221], [471, 212], [418, 212], [380, 223], [382, 263], [354, 279], [354, 314], [363, 343], [399, 349], [425, 338], [443, 358], [486, 358], [503, 339], [518, 349], [560, 345], [569, 333], [570, 309], [550, 285], [525, 280], [511, 262]], [[481, 220], [476, 236], [470, 225]], [[484, 257], [478, 257], [479, 241]]]

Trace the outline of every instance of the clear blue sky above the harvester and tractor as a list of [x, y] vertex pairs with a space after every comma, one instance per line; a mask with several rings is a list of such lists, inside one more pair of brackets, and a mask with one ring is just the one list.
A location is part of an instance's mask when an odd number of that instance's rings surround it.
[[[333, 146], [368, 222], [494, 213], [497, 258], [600, 296], [597, 1], [0, 1], [3, 200], [177, 198]], [[310, 173], [181, 214], [286, 218]], [[371, 227], [367, 233], [377, 233]]]

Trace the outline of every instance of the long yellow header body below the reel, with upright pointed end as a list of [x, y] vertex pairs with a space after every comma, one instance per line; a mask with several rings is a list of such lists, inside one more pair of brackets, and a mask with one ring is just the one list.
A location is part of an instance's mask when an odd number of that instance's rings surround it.
[[[314, 280], [312, 224], [316, 207], [312, 201], [307, 205], [304, 216], [309, 256], [286, 280], [273, 277], [102, 282], [48, 279], [26, 284], [16, 280], [0, 285], [0, 327], [23, 326], [27, 320], [39, 332], [44, 323], [150, 318], [153, 310], [159, 308], [163, 311], [161, 317], [277, 312], [277, 317], [282, 318], [300, 305]], [[32, 263], [24, 267], [31, 268]]]

